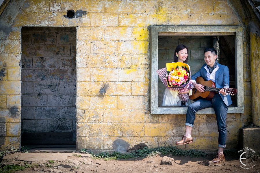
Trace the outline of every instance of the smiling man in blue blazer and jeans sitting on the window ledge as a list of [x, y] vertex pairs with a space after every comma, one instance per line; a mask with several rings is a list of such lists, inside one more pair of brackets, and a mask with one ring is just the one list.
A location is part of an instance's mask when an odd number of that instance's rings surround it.
[[223, 88], [229, 88], [229, 68], [217, 62], [217, 51], [213, 48], [204, 50], [204, 64], [201, 69], [192, 75], [192, 85], [198, 92], [204, 92], [203, 85], [196, 83], [196, 78], [202, 77], [205, 81], [212, 80], [217, 88], [222, 88], [218, 93], [215, 93], [211, 100], [199, 99], [188, 106], [186, 114], [186, 133], [182, 140], [176, 142], [176, 145], [193, 143], [191, 131], [195, 120], [195, 113], [198, 110], [212, 108], [215, 110], [218, 124], [218, 153], [212, 160], [214, 163], [221, 162], [225, 157], [223, 149], [226, 147], [226, 113], [228, 106], [232, 104], [231, 97], [224, 92]]

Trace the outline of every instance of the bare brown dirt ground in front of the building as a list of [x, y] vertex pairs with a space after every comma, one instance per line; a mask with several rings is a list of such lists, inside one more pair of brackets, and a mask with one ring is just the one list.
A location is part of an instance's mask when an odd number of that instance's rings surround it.
[[[250, 170], [240, 168], [241, 165], [239, 158], [226, 156], [226, 160], [222, 161], [222, 166], [203, 166], [197, 161], [211, 160], [214, 156], [191, 158], [191, 157], [178, 157], [167, 155], [175, 159], [173, 166], [160, 165], [163, 156], [155, 156], [151, 158], [138, 158], [138, 159], [120, 159], [104, 161], [103, 159], [91, 159], [90, 157], [78, 157], [75, 155], [67, 157], [64, 160], [55, 160], [55, 163], [49, 163], [48, 161], [29, 161], [34, 168], [28, 168], [23, 171], [26, 173], [36, 172], [140, 172], [140, 173], [154, 173], [154, 172], [182, 172], [182, 173], [199, 173], [199, 172], [250, 172], [259, 173], [260, 171], [260, 159], [254, 161], [255, 167]], [[7, 160], [6, 160], [7, 161]], [[11, 161], [11, 160], [9, 160]], [[19, 162], [19, 158], [16, 160]], [[72, 167], [72, 168], [71, 168]]]

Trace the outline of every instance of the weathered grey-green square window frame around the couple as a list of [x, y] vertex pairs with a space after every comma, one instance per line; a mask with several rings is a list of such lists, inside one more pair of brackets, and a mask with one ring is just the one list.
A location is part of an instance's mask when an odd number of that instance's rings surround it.
[[[237, 106], [230, 106], [227, 113], [244, 112], [244, 77], [243, 75], [243, 28], [239, 26], [151, 26], [150, 27], [150, 56], [151, 56], [151, 114], [186, 114], [187, 107], [158, 106], [158, 36], [159, 35], [235, 35], [236, 45], [236, 89]], [[239, 75], [238, 75], [239, 74]], [[215, 114], [213, 108], [199, 110], [197, 114]]]

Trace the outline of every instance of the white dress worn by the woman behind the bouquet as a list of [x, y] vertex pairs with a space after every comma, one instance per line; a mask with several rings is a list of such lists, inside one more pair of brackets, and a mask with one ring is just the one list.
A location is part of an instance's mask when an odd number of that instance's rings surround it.
[[[191, 76], [191, 72], [190, 72], [190, 76]], [[186, 102], [186, 105], [189, 104], [191, 104], [190, 99]], [[161, 106], [181, 106], [181, 99], [177, 95], [177, 91], [169, 90], [166, 88], [164, 91], [164, 97], [162, 99]]]

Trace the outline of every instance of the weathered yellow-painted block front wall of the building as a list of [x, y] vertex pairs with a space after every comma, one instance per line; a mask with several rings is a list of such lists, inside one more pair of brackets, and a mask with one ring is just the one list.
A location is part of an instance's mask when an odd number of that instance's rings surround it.
[[[237, 10], [225, 0], [26, 0], [21, 6], [14, 21], [5, 20], [12, 32], [6, 33], [0, 45], [0, 125], [4, 131], [0, 149], [20, 147], [22, 26], [77, 27], [77, 149], [96, 151], [116, 150], [118, 141], [129, 147], [140, 142], [148, 147], [174, 145], [183, 136], [185, 115], [149, 111], [149, 26], [244, 26]], [[76, 17], [64, 17], [71, 9]], [[8, 15], [12, 14], [2, 14], [6, 19]], [[238, 57], [243, 58], [246, 82], [250, 82], [249, 38], [244, 30], [244, 56]], [[252, 122], [250, 85], [244, 84], [244, 94], [244, 113], [227, 115], [226, 148], [236, 148], [239, 128]], [[216, 149], [215, 115], [198, 114], [192, 136], [196, 142], [178, 147]]]

